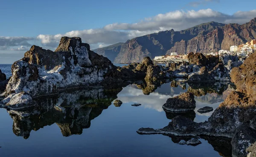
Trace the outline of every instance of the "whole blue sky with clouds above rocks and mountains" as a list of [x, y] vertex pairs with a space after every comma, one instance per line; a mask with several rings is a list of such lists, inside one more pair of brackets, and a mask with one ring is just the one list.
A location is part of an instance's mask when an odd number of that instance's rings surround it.
[[55, 50], [62, 36], [91, 49], [162, 30], [210, 21], [246, 23], [256, 1], [241, 0], [0, 0], [0, 64], [12, 64], [32, 45]]

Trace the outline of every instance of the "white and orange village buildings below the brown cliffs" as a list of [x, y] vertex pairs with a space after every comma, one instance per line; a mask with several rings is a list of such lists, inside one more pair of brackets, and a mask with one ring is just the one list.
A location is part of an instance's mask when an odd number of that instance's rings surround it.
[[[204, 53], [204, 55], [237, 55], [246, 58], [251, 53], [256, 51], [256, 40], [246, 42], [241, 45], [233, 45], [230, 50], [221, 49], [218, 52]], [[172, 52], [170, 55], [156, 56], [154, 61], [166, 62], [166, 61], [187, 61], [187, 55], [178, 55], [177, 52]]]

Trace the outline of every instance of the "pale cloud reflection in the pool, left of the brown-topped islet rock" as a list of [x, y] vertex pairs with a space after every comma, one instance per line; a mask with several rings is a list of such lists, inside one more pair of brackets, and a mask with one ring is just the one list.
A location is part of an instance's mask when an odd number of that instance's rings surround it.
[[166, 100], [171, 96], [159, 93], [150, 93], [150, 95], [144, 95], [142, 90], [127, 86], [123, 88], [117, 97], [123, 103], [139, 103], [144, 108], [152, 108], [158, 112], [162, 112], [163, 104], [166, 103]]

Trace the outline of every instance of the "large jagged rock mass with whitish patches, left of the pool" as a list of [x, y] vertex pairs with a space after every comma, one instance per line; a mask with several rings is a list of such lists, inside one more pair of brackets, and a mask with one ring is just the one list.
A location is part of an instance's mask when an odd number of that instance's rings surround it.
[[115, 69], [108, 58], [90, 51], [81, 38], [62, 37], [55, 52], [33, 45], [12, 65], [3, 103], [12, 109], [24, 108], [37, 96], [119, 81]]

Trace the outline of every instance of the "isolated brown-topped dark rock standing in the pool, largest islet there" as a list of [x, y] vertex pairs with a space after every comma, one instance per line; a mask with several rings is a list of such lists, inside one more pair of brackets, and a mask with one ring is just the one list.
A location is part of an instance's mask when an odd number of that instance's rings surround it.
[[182, 93], [179, 96], [167, 99], [163, 109], [172, 112], [183, 112], [195, 109], [194, 95], [191, 93]]

